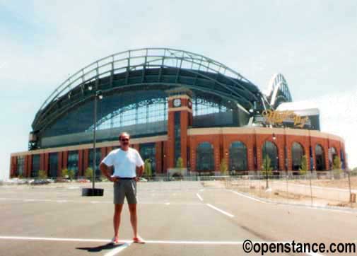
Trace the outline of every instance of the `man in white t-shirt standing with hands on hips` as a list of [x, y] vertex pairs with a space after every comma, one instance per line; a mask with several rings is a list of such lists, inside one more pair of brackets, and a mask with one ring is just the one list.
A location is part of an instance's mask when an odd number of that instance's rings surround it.
[[[144, 240], [138, 237], [137, 231], [137, 215], [136, 215], [136, 182], [139, 181], [143, 170], [144, 161], [136, 149], [129, 147], [130, 136], [127, 132], [119, 135], [119, 143], [121, 148], [111, 151], [100, 163], [100, 170], [108, 180], [114, 182], [114, 204], [115, 212], [113, 217], [114, 237], [112, 243], [118, 243], [120, 215], [124, 205], [124, 197], [127, 197], [127, 202], [130, 211], [130, 222], [134, 231], [134, 243], [144, 243]], [[114, 165], [114, 174], [110, 175], [109, 167]], [[137, 174], [136, 174], [137, 170]]]

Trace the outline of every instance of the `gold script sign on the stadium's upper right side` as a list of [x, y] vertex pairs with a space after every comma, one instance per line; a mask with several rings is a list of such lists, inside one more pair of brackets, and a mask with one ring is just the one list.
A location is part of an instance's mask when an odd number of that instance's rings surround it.
[[291, 110], [286, 111], [274, 111], [274, 110], [264, 110], [262, 112], [263, 117], [269, 124], [282, 124], [285, 122], [293, 122], [294, 127], [303, 128], [304, 125], [308, 122], [309, 117], [301, 117], [300, 115], [296, 115]]

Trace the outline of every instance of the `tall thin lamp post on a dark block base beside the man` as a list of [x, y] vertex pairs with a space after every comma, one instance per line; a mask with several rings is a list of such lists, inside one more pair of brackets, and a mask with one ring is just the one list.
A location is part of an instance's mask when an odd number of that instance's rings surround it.
[[[92, 91], [93, 86], [88, 86], [88, 90]], [[97, 141], [97, 105], [98, 105], [98, 99], [102, 100], [103, 99], [103, 93], [102, 91], [95, 91], [95, 97], [94, 97], [94, 116], [93, 116], [93, 175], [92, 175], [92, 188], [83, 188], [82, 189], [82, 196], [85, 197], [94, 197], [94, 196], [99, 196], [103, 197], [103, 192], [104, 190], [101, 188], [95, 188], [95, 162], [96, 162], [96, 156], [95, 156], [95, 143]]]

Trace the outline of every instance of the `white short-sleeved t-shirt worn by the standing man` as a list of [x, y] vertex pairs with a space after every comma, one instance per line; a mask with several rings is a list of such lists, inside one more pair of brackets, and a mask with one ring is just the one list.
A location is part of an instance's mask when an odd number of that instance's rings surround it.
[[113, 175], [122, 178], [136, 176], [136, 166], [144, 165], [143, 159], [136, 149], [129, 148], [127, 151], [115, 149], [103, 159], [102, 163], [107, 166], [114, 165]]

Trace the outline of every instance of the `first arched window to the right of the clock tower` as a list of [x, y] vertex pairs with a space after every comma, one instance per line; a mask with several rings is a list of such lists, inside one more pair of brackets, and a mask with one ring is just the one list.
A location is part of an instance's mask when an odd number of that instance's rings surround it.
[[197, 146], [196, 170], [214, 170], [213, 146], [209, 142]]

